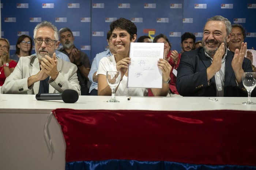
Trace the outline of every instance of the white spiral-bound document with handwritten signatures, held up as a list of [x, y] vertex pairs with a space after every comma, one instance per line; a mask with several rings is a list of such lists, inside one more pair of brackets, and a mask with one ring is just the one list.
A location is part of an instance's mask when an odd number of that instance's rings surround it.
[[164, 43], [137, 43], [130, 45], [127, 88], [162, 88], [162, 71], [158, 68], [163, 58]]

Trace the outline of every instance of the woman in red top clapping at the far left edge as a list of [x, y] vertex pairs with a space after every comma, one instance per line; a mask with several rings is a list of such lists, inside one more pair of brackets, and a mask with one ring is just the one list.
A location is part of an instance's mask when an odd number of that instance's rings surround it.
[[4, 84], [6, 77], [10, 76], [17, 65], [12, 59], [9, 59], [10, 43], [5, 38], [0, 38], [0, 86]]

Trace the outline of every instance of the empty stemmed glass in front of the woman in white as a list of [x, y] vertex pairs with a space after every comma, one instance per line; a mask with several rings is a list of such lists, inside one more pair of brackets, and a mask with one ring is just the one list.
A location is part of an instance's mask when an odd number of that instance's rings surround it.
[[116, 72], [110, 71], [110, 72], [107, 72], [106, 77], [107, 77], [108, 84], [112, 90], [111, 99], [108, 100], [107, 102], [119, 102], [118, 100], [116, 100], [115, 92], [116, 92], [116, 87], [120, 83], [121, 73], [119, 71], [116, 71]]

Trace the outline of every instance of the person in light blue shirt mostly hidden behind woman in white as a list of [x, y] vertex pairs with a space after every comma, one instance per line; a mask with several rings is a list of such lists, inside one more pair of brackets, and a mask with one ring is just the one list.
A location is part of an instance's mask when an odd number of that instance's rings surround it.
[[88, 74], [88, 78], [91, 82], [91, 86], [89, 89], [89, 93], [91, 96], [97, 96], [98, 95], [98, 77], [96, 76], [97, 70], [98, 70], [98, 66], [99, 66], [99, 61], [103, 58], [103, 57], [108, 57], [111, 55], [116, 54], [116, 51], [114, 51], [113, 48], [113, 44], [111, 42], [112, 38], [111, 38], [112, 32], [108, 31], [107, 33], [107, 42], [109, 45], [109, 49], [106, 51], [103, 51], [101, 53], [96, 54], [95, 58], [93, 59], [93, 63], [91, 64], [91, 70]]

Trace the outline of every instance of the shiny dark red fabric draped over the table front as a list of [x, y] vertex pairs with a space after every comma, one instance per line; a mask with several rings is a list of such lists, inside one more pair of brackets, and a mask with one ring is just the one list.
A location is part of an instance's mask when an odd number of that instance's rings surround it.
[[53, 111], [66, 161], [129, 159], [256, 166], [255, 111]]

